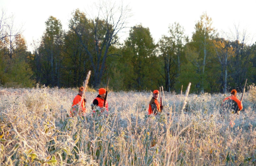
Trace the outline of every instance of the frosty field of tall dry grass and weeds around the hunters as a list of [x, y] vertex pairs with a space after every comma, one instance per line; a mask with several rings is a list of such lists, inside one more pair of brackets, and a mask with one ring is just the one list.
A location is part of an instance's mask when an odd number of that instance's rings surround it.
[[[164, 111], [148, 116], [150, 92], [108, 92], [109, 112], [68, 117], [75, 88], [0, 88], [0, 165], [256, 165], [256, 87], [240, 115], [220, 115], [229, 94], [162, 93]], [[241, 94], [238, 94], [241, 96]], [[239, 97], [240, 98], [240, 97]]]

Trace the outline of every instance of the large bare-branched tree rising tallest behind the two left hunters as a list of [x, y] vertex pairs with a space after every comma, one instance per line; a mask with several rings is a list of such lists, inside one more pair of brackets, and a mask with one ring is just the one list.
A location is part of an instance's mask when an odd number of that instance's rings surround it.
[[[117, 6], [101, 2], [96, 6], [98, 13], [96, 17], [87, 19], [80, 18], [83, 21], [70, 22], [70, 29], [74, 30], [80, 39], [89, 60], [92, 64], [93, 85], [97, 87], [105, 72], [106, 59], [111, 54], [108, 53], [109, 48], [117, 44], [117, 34], [124, 30], [126, 21], [130, 17], [128, 6]], [[81, 15], [82, 16], [82, 15]]]

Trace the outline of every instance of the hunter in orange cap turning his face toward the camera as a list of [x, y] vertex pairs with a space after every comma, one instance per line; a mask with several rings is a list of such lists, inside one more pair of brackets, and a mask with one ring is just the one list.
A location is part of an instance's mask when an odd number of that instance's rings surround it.
[[153, 92], [153, 97], [149, 102], [149, 108], [148, 108], [148, 115], [154, 113], [155, 115], [157, 115], [159, 112], [161, 113], [161, 109], [163, 109], [163, 106], [160, 106], [159, 102], [158, 102], [158, 94], [159, 91], [158, 90], [154, 90]]

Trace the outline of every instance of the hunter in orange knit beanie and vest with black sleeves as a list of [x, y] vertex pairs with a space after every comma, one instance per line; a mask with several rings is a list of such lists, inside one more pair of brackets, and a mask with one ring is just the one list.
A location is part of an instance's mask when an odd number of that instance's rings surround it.
[[[106, 95], [106, 89], [100, 88], [98, 96], [92, 102], [92, 109], [94, 109], [96, 106], [99, 106], [100, 108], [102, 108], [101, 111], [104, 111], [104, 109], [106, 109], [108, 111], [108, 101], [107, 100], [105, 103], [105, 107], [103, 106], [105, 95]], [[95, 111], [93, 110], [93, 112], [95, 112]]]

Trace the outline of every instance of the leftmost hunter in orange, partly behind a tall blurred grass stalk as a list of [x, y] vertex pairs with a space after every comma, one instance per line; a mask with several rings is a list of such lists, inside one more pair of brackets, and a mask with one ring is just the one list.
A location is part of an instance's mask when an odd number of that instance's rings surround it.
[[73, 100], [72, 108], [70, 109], [70, 117], [74, 117], [77, 113], [79, 116], [85, 116], [86, 108], [85, 103], [86, 99], [83, 97], [84, 87], [80, 87], [78, 90], [78, 94]]

